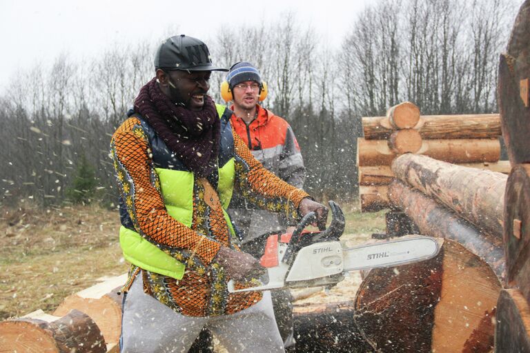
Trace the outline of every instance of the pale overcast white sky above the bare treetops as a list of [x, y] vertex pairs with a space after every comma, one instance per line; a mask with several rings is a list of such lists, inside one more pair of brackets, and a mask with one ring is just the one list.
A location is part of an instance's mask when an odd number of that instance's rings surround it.
[[311, 24], [328, 43], [339, 46], [370, 2], [0, 0], [0, 92], [17, 70], [50, 63], [61, 53], [95, 57], [117, 41], [159, 40], [180, 33], [206, 41], [221, 25], [275, 21], [289, 10], [297, 23]]

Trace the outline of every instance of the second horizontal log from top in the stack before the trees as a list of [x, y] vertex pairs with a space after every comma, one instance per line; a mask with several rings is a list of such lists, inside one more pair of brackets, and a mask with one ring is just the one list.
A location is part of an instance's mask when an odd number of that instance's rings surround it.
[[[423, 140], [418, 154], [449, 163], [496, 162], [500, 143], [490, 139]], [[357, 165], [390, 165], [397, 156], [387, 141], [357, 139]]]

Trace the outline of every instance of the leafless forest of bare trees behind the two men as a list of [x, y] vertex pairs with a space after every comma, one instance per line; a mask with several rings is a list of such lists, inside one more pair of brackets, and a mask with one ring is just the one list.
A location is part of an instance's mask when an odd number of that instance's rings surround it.
[[[308, 192], [348, 197], [357, 192], [361, 117], [382, 115], [400, 101], [412, 101], [422, 114], [497, 112], [498, 57], [519, 5], [377, 1], [352, 19], [349, 32], [337, 34], [344, 36], [340, 48], [295, 13], [221, 26], [202, 39], [216, 64], [246, 60], [262, 71], [269, 87], [264, 106], [293, 125]], [[156, 46], [116, 43], [83, 61], [61, 54], [14, 77], [0, 92], [1, 203], [115, 203], [110, 136], [154, 76]], [[220, 102], [224, 74], [212, 77], [210, 94]]]

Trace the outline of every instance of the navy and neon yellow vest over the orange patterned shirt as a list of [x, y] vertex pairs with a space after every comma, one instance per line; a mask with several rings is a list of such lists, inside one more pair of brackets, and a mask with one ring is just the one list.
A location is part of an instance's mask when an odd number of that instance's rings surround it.
[[[219, 148], [219, 158], [217, 167], [217, 191], [219, 201], [223, 206], [223, 213], [230, 233], [234, 235], [234, 229], [226, 208], [232, 198], [235, 165], [233, 157], [233, 134], [230, 127], [230, 116], [232, 112], [224, 105], [216, 104], [217, 113], [221, 117], [221, 143]], [[193, 172], [185, 169], [182, 163], [175, 163], [175, 157], [171, 163], [164, 163], [164, 158], [160, 154], [168, 153], [170, 150], [164, 141], [155, 136], [151, 128], [144, 119], [141, 125], [151, 143], [150, 148], [153, 153], [153, 162], [157, 172], [161, 194], [168, 214], [176, 221], [190, 227], [193, 219], [193, 185], [195, 176]], [[153, 141], [157, 139], [157, 141]], [[167, 159], [167, 158], [166, 158]], [[123, 223], [123, 221], [122, 221]], [[177, 261], [173, 256], [164, 252], [157, 245], [150, 243], [138, 232], [121, 225], [119, 230], [119, 244], [124, 253], [124, 259], [144, 270], [164, 274], [165, 276], [181, 279], [184, 276], [186, 265]]]

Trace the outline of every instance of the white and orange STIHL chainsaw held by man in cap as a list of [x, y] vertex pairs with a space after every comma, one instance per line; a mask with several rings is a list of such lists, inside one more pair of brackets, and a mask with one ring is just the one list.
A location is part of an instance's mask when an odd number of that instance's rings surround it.
[[315, 212], [309, 212], [292, 234], [268, 235], [259, 261], [266, 273], [248, 283], [230, 280], [228, 292], [335, 285], [345, 272], [424, 261], [440, 251], [436, 239], [421, 235], [344, 248], [340, 242], [344, 213], [333, 201], [329, 207], [332, 219], [325, 230], [305, 230], [316, 221]]

